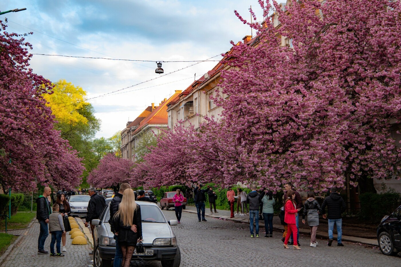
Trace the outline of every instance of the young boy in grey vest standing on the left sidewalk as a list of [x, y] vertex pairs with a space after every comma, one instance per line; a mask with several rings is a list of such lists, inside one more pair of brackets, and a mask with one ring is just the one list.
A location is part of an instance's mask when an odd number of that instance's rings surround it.
[[[64, 254], [61, 253], [60, 243], [61, 243], [61, 235], [65, 233], [63, 215], [59, 212], [60, 207], [59, 204], [53, 205], [53, 213], [49, 216], [49, 234], [51, 234], [51, 242], [50, 242], [50, 257], [64, 257]], [[54, 243], [57, 241], [57, 254], [54, 253]]]

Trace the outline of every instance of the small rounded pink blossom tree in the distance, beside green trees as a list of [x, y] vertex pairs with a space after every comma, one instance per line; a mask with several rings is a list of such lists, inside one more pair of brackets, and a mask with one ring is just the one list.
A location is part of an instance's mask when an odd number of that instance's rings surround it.
[[130, 182], [130, 170], [133, 162], [117, 158], [115, 154], [106, 154], [88, 176], [87, 182], [98, 188], [117, 188], [119, 184]]

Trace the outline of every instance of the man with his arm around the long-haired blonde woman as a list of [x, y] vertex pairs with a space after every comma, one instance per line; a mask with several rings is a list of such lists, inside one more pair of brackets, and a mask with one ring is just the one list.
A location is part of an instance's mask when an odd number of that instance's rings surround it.
[[[115, 229], [114, 229], [114, 224], [113, 224], [112, 220], [113, 220], [113, 216], [114, 216], [115, 212], [118, 211], [118, 205], [120, 204], [120, 202], [121, 202], [121, 200], [123, 198], [124, 190], [126, 190], [127, 188], [131, 188], [130, 184], [122, 183], [120, 185], [120, 188], [119, 188], [118, 192], [116, 192], [114, 194], [114, 197], [110, 202], [109, 224], [110, 224], [111, 232], [113, 232], [114, 239], [115, 239], [115, 255], [114, 255], [113, 267], [120, 267], [121, 266], [121, 263], [122, 263], [122, 260], [123, 260], [123, 253], [121, 251], [121, 246], [118, 243], [118, 235], [115, 235]], [[136, 232], [136, 225], [133, 225], [131, 227], [131, 230], [133, 232]]]

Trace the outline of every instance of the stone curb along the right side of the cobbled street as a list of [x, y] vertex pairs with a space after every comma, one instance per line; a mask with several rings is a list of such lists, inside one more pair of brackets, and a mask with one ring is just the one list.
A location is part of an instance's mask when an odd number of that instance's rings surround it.
[[[193, 210], [182, 210], [184, 212], [190, 212], [190, 213], [197, 213], [194, 212]], [[229, 220], [229, 221], [233, 221], [235, 223], [246, 223], [249, 224], [249, 220], [247, 218], [243, 218], [243, 217], [234, 217], [234, 218], [230, 218], [230, 216], [220, 216], [220, 215], [207, 215], [205, 214], [205, 216], [211, 217], [211, 218], [216, 218], [216, 219], [221, 219], [221, 220]], [[259, 223], [259, 226], [263, 226], [265, 227], [264, 223]], [[273, 225], [273, 230], [275, 231], [284, 231], [284, 227], [282, 225]], [[328, 239], [328, 233], [326, 232], [321, 232], [321, 234], [316, 233], [316, 237], [322, 238], [322, 239]], [[305, 230], [305, 229], [300, 229], [300, 234], [304, 234], [304, 235], [309, 235], [310, 231]], [[333, 239], [337, 240], [337, 235], [333, 235]], [[364, 245], [371, 245], [371, 246], [376, 246], [379, 247], [379, 243], [377, 242], [376, 239], [368, 239], [368, 238], [361, 238], [361, 237], [350, 237], [347, 235], [343, 235], [341, 238], [343, 241], [348, 241], [348, 242], [353, 242], [353, 243], [361, 243]]]

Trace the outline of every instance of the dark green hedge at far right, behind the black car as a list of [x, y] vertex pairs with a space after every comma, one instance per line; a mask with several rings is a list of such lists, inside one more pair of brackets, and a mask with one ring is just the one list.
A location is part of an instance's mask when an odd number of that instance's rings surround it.
[[387, 192], [383, 194], [363, 193], [359, 196], [360, 217], [371, 221], [380, 221], [392, 213], [401, 203], [401, 194]]

